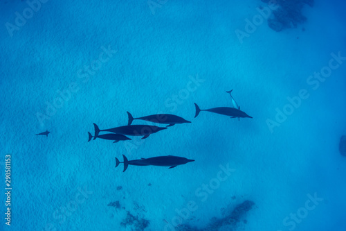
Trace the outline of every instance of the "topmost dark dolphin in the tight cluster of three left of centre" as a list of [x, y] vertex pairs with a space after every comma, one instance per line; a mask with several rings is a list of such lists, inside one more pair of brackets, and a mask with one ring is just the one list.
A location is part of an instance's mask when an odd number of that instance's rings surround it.
[[127, 115], [129, 116], [129, 123], [127, 125], [130, 125], [134, 119], [142, 119], [153, 123], [165, 123], [168, 124], [167, 127], [174, 126], [176, 123], [191, 123], [190, 121], [187, 121], [174, 114], [152, 114], [146, 117], [138, 118], [132, 117], [130, 112], [127, 112]]

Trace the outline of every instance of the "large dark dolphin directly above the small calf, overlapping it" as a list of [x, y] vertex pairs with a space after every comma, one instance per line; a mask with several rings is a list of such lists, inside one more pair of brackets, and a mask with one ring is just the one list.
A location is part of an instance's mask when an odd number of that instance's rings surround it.
[[98, 137], [99, 132], [113, 132], [121, 135], [143, 135], [142, 139], [145, 139], [149, 137], [150, 134], [167, 129], [150, 125], [128, 125], [100, 130], [95, 123], [93, 123], [93, 126], [95, 128], [95, 135], [93, 139], [96, 139], [96, 137]]

